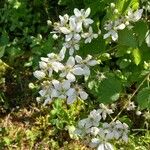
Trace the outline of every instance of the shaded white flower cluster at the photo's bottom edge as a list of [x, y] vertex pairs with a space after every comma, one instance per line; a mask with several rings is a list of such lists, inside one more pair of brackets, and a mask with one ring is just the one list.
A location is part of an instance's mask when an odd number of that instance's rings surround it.
[[[128, 125], [119, 120], [110, 123], [104, 122], [106, 117], [113, 113], [104, 104], [100, 104], [100, 109], [90, 112], [88, 118], [78, 122], [75, 134], [88, 141], [89, 146], [98, 150], [113, 150], [109, 143], [112, 139], [128, 141]], [[103, 121], [102, 121], [103, 120]]]

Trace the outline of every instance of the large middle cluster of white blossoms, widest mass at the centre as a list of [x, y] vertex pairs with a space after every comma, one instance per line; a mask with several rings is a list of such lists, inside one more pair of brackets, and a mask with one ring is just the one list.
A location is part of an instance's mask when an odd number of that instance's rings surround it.
[[[64, 62], [66, 48], [63, 47], [59, 54], [50, 53], [41, 57], [40, 70], [33, 74], [41, 80], [41, 90], [37, 101], [44, 100], [44, 105], [55, 98], [67, 99], [67, 104], [72, 104], [76, 99], [87, 99], [88, 94], [76, 83], [76, 76], [89, 76], [90, 66], [97, 64], [96, 60], [88, 55], [85, 59], [76, 55], [69, 56]], [[57, 77], [58, 79], [55, 79]]]

